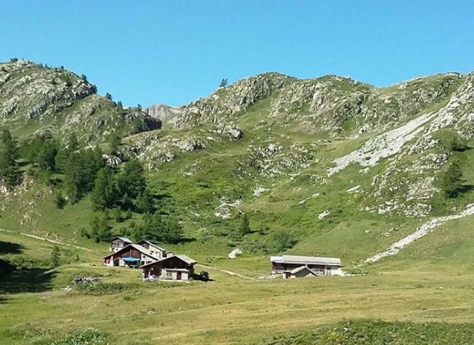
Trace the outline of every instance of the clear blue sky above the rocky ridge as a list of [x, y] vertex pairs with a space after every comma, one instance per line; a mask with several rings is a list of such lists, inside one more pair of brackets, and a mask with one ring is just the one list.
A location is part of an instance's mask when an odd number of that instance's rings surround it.
[[386, 86], [474, 69], [472, 0], [22, 0], [0, 6], [0, 60], [86, 74], [124, 104], [185, 104], [277, 71]]

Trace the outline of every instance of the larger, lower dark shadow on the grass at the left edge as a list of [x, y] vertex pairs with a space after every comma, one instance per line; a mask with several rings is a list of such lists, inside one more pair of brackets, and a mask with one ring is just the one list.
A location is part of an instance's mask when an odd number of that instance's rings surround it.
[[1, 295], [51, 290], [55, 276], [56, 273], [51, 269], [17, 267], [0, 259], [0, 303], [5, 298]]

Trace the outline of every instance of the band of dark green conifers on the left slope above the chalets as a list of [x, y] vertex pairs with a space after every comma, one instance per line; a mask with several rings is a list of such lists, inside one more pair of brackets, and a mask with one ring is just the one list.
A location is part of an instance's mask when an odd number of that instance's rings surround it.
[[[112, 135], [111, 148], [116, 152], [119, 137]], [[81, 234], [93, 241], [109, 241], [112, 237], [110, 214], [122, 222], [122, 212], [130, 219], [133, 213], [142, 215], [141, 222], [131, 222], [128, 236], [145, 238], [162, 243], [183, 240], [183, 227], [171, 215], [157, 207], [157, 202], [147, 184], [145, 170], [140, 161], [130, 159], [120, 167], [105, 163], [100, 147], [84, 148], [72, 134], [65, 144], [47, 135], [37, 135], [19, 144], [9, 130], [1, 133], [0, 176], [8, 187], [15, 187], [22, 180], [22, 165], [27, 173], [50, 185], [58, 208], [88, 198], [96, 216], [90, 229]]]

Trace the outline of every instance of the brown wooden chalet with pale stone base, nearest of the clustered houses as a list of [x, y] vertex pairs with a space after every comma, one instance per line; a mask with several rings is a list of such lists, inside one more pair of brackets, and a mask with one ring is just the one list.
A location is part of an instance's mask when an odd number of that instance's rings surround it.
[[176, 254], [144, 264], [140, 269], [143, 269], [143, 280], [190, 280], [195, 264], [196, 260]]

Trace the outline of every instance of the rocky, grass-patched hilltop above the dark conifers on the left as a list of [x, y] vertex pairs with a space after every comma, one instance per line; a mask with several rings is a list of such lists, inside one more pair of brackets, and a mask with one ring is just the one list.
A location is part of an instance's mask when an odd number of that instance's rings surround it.
[[21, 135], [75, 132], [88, 143], [107, 140], [115, 131], [130, 133], [136, 121], [149, 130], [161, 126], [140, 109], [124, 109], [97, 95], [86, 76], [29, 61], [0, 65], [0, 121]]

